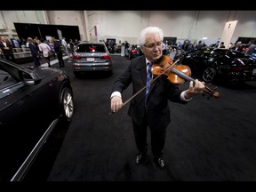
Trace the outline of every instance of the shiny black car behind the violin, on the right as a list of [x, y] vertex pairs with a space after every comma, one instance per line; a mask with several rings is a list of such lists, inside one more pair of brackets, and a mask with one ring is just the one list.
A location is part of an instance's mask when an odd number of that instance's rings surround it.
[[180, 63], [206, 83], [256, 81], [256, 59], [244, 52], [208, 47], [183, 54]]

